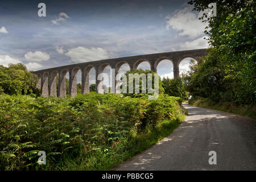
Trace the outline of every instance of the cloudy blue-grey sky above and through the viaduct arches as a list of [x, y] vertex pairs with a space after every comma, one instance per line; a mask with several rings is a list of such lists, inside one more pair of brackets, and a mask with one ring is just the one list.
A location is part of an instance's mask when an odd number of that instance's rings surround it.
[[[41, 2], [46, 5], [45, 17], [38, 15]], [[207, 48], [207, 25], [187, 2], [1, 1], [0, 64], [23, 63], [36, 71], [114, 57]], [[188, 70], [189, 60], [181, 63], [180, 72]], [[139, 65], [148, 67], [146, 62]], [[127, 69], [123, 65], [121, 72]], [[173, 77], [169, 60], [160, 62], [157, 69], [161, 77]], [[110, 67], [104, 72], [109, 74]], [[92, 69], [90, 84], [95, 80], [93, 74]]]

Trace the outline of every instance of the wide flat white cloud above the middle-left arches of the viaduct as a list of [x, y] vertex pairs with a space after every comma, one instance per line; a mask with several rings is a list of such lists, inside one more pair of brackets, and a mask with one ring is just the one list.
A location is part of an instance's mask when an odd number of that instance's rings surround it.
[[105, 49], [94, 47], [90, 49], [85, 47], [68, 49], [65, 55], [71, 57], [71, 61], [74, 63], [84, 63], [109, 58], [108, 52]]

